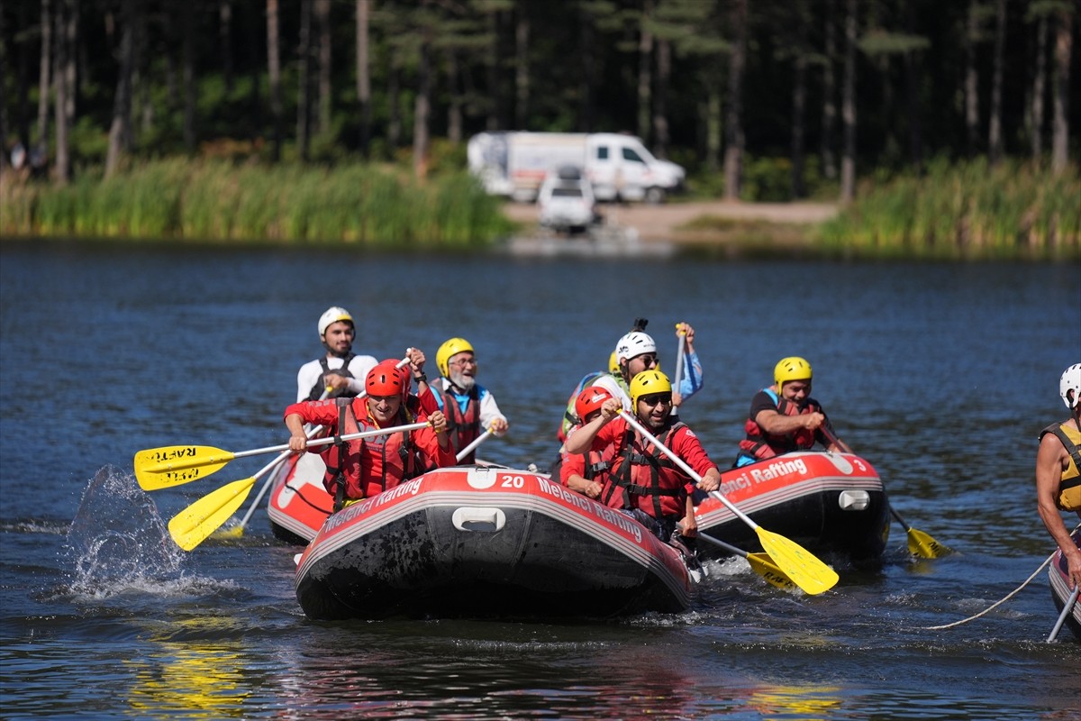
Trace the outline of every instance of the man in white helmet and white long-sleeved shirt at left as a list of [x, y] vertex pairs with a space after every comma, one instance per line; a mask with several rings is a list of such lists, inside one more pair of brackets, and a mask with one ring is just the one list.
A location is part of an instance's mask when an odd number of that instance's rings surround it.
[[296, 374], [296, 400], [352, 398], [364, 390], [364, 377], [375, 366], [372, 356], [357, 356], [352, 342], [357, 335], [352, 315], [332, 306], [319, 317], [319, 341], [325, 356], [301, 366]]

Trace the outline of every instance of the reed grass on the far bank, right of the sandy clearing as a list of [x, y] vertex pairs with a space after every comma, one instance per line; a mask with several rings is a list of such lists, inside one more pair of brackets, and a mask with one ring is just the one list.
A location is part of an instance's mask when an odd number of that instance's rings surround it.
[[1081, 176], [985, 159], [936, 160], [922, 176], [865, 181], [857, 199], [824, 223], [817, 243], [869, 257], [1081, 257]]

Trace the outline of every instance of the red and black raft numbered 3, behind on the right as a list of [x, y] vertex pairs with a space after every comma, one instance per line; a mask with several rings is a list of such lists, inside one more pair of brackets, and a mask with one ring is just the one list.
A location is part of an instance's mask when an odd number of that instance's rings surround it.
[[[849, 453], [797, 452], [721, 472], [721, 493], [763, 529], [813, 553], [851, 560], [881, 557], [890, 534], [882, 480], [867, 460]], [[716, 498], [695, 510], [698, 530], [747, 551], [761, 550], [750, 525]], [[699, 552], [716, 549], [699, 544]]]

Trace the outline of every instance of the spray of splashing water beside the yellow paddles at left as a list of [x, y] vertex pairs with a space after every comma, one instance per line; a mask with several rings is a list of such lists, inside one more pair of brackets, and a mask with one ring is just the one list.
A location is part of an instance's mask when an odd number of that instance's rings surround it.
[[157, 505], [114, 466], [98, 470], [83, 492], [67, 551], [75, 564], [70, 590], [95, 598], [161, 587], [177, 579], [184, 561]]

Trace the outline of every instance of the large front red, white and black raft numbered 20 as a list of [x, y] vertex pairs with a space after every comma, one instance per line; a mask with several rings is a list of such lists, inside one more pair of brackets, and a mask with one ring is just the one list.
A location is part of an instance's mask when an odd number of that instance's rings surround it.
[[316, 619], [678, 613], [679, 552], [629, 517], [523, 470], [440, 468], [330, 517], [297, 560]]

